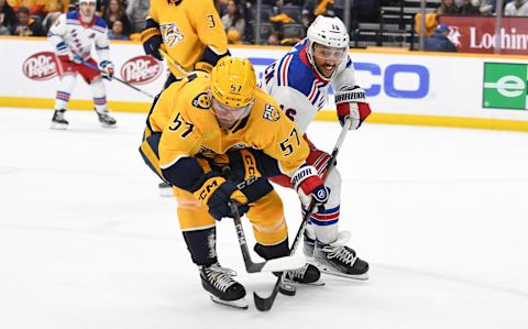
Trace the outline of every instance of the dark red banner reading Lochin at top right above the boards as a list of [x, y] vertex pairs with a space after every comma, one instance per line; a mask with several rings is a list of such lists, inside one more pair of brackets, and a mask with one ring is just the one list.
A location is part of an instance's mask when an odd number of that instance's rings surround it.
[[[459, 53], [494, 54], [494, 17], [449, 17], [440, 15], [439, 21], [449, 26], [448, 37], [458, 47]], [[528, 18], [502, 18], [501, 54], [528, 54]]]

